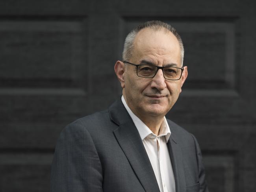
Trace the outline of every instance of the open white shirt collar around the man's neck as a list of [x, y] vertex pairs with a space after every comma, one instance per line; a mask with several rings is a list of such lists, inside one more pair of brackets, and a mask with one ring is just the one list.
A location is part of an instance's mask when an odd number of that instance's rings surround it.
[[[145, 123], [143, 123], [143, 121], [141, 121], [133, 112], [132, 110], [128, 107], [124, 96], [122, 95], [121, 97], [122, 103], [124, 104], [125, 109], [127, 110], [127, 112], [129, 113], [129, 115], [132, 118], [132, 121], [134, 122], [136, 128], [139, 131], [139, 135], [141, 137], [141, 140], [144, 140], [146, 137], [148, 137], [148, 135], [155, 135], [149, 128], [148, 126], [146, 126]], [[161, 124], [160, 127], [160, 131], [159, 131], [159, 135], [157, 137], [162, 137], [165, 136], [165, 140], [166, 142], [168, 142], [169, 137], [171, 135], [171, 131], [170, 131], [170, 127], [167, 123], [167, 120], [165, 118], [165, 116], [163, 117], [163, 122]]]

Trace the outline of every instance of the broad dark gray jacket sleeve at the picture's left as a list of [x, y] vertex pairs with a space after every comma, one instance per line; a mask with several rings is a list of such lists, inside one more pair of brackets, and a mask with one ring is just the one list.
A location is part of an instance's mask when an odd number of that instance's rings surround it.
[[103, 192], [102, 166], [91, 135], [79, 122], [65, 127], [51, 167], [51, 192]]

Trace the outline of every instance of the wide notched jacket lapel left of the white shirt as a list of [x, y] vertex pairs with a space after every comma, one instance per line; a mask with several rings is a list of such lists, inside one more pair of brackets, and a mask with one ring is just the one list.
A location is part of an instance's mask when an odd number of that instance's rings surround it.
[[146, 192], [160, 192], [139, 132], [121, 100], [118, 100], [109, 107], [109, 114], [111, 120], [119, 125], [119, 128], [114, 130], [115, 137], [141, 185]]

